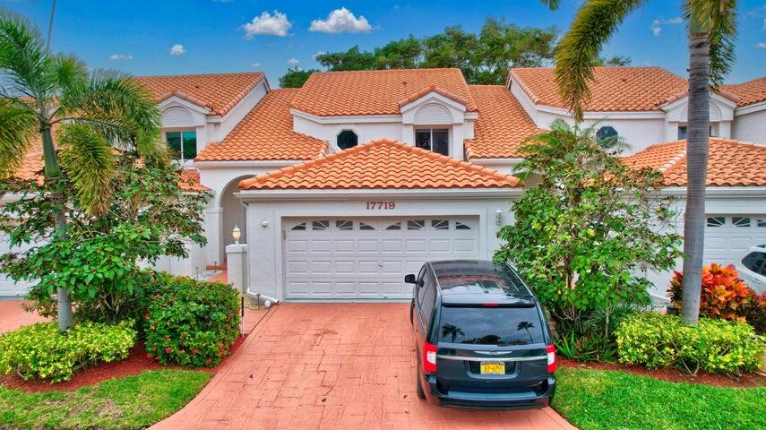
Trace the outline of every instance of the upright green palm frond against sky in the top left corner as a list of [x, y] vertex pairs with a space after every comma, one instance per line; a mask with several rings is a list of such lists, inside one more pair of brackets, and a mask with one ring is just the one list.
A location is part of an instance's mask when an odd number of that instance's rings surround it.
[[14, 96], [47, 98], [54, 92], [50, 59], [39, 30], [17, 13], [0, 10], [0, 85]]

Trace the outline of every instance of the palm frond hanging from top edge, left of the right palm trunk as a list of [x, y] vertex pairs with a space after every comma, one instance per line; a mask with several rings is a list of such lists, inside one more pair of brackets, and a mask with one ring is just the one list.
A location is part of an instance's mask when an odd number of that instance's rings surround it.
[[646, 0], [588, 0], [556, 47], [555, 81], [575, 121], [582, 121], [582, 106], [590, 98], [591, 64], [628, 13], [644, 3]]

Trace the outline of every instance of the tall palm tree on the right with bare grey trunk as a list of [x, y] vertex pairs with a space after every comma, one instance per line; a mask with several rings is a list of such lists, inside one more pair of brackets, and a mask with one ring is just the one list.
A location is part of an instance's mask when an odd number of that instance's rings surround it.
[[[542, 0], [551, 9], [558, 0]], [[590, 97], [592, 64], [617, 26], [646, 0], [587, 0], [555, 53], [555, 80], [577, 122]], [[734, 59], [736, 0], [684, 0], [689, 30], [689, 114], [684, 286], [682, 320], [696, 325], [700, 315], [702, 253], [705, 236], [705, 176], [708, 169], [710, 87], [716, 88]]]

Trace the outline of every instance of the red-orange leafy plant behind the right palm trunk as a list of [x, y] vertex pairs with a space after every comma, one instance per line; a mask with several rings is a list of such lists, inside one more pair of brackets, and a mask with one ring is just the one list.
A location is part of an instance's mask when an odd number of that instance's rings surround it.
[[[676, 308], [681, 308], [684, 274], [676, 271], [670, 281], [670, 299]], [[723, 267], [715, 262], [702, 268], [702, 295], [700, 313], [710, 318], [723, 318], [744, 322], [744, 307], [755, 297], [752, 289], [739, 279], [739, 272], [733, 265]]]

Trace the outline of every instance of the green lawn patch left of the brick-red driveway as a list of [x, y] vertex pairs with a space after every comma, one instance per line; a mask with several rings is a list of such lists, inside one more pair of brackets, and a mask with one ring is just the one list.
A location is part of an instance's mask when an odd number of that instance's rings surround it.
[[144, 428], [181, 409], [210, 378], [206, 372], [156, 370], [71, 392], [0, 386], [0, 428]]

